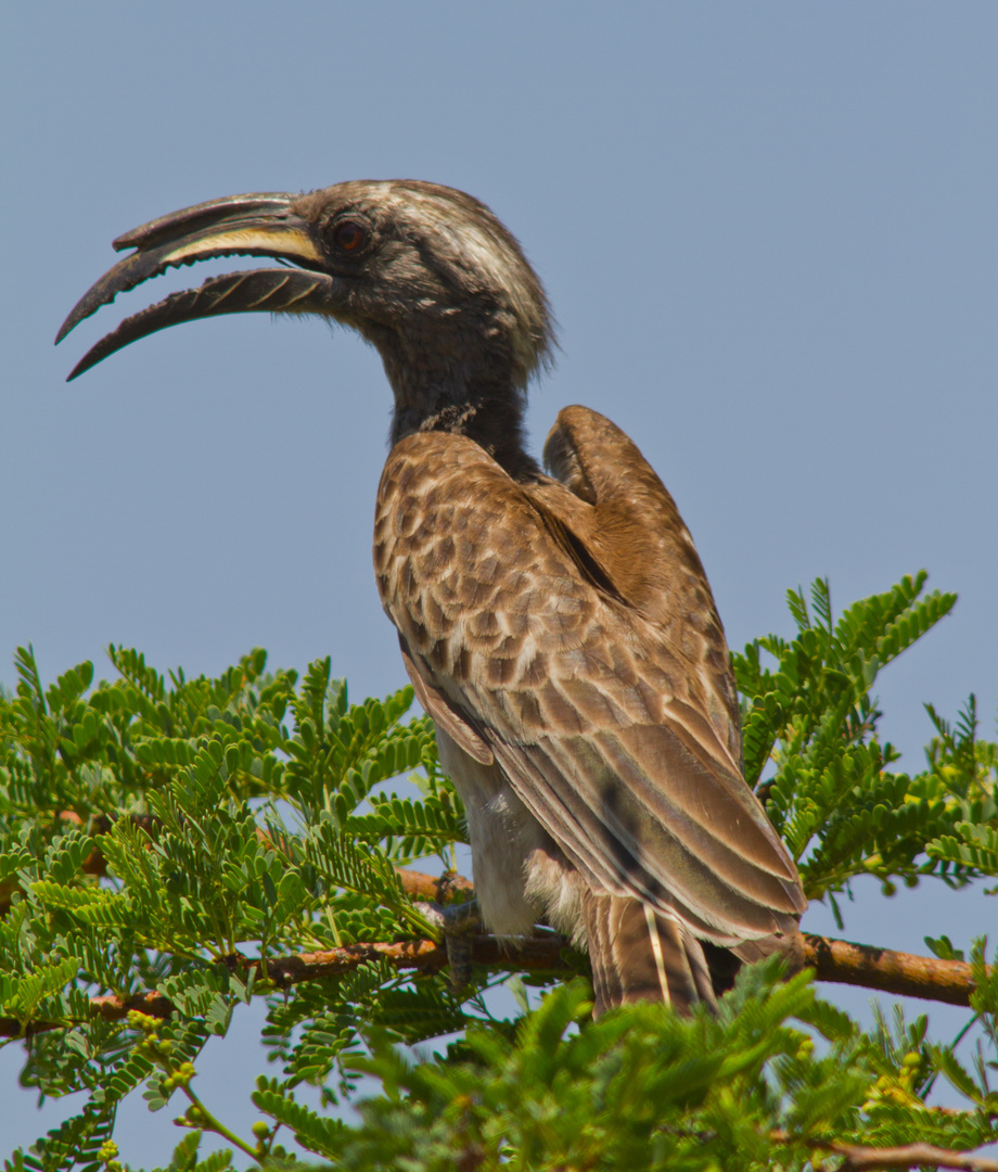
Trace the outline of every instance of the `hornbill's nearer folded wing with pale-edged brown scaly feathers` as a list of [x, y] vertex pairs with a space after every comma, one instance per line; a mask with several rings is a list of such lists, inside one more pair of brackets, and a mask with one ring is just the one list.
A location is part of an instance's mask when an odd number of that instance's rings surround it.
[[465, 751], [494, 757], [595, 893], [675, 908], [718, 943], [789, 931], [797, 871], [682, 616], [628, 598], [559, 492], [596, 510], [554, 482], [513, 482], [460, 436], [395, 447], [375, 566], [421, 700]]

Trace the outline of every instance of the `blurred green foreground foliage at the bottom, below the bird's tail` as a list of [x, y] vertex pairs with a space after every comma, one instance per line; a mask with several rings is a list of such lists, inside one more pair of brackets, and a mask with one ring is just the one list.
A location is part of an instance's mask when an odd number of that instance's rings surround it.
[[[907, 1051], [889, 1061], [877, 1040], [814, 997], [807, 976], [778, 979], [772, 963], [744, 970], [718, 1016], [630, 1006], [599, 1022], [576, 981], [515, 1030], [478, 1023], [435, 1062], [412, 1062], [372, 1035], [370, 1054], [350, 1061], [384, 1092], [361, 1104], [360, 1127], [262, 1081], [254, 1102], [310, 1151], [357, 1170], [748, 1172], [811, 1167], [830, 1137], [953, 1133], [904, 1090]], [[826, 1044], [815, 1047], [813, 1034]], [[987, 1105], [968, 1111], [958, 1133], [969, 1147], [992, 1138]]]

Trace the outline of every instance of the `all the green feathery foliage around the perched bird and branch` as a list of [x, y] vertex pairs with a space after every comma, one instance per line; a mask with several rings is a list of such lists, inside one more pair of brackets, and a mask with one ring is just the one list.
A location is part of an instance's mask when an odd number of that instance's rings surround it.
[[[838, 621], [826, 582], [809, 602], [791, 592], [797, 636], [733, 656], [746, 776], [808, 895], [833, 907], [862, 874], [886, 892], [897, 879], [998, 878], [998, 747], [978, 736], [973, 697], [952, 723], [929, 707], [921, 772], [894, 770], [877, 734], [879, 670], [953, 605], [923, 594], [924, 580]], [[205, 1150], [212, 1137], [273, 1167], [294, 1137], [336, 1166], [410, 1172], [809, 1168], [835, 1143], [969, 1150], [998, 1138], [998, 975], [983, 942], [971, 1059], [959, 1038], [932, 1041], [927, 1017], [864, 1033], [806, 974], [780, 982], [771, 965], [743, 970], [718, 1016], [692, 1020], [637, 1006], [593, 1022], [580, 980], [531, 1011], [519, 977], [522, 1015], [494, 1020], [481, 993], [515, 973], [515, 954], [505, 974], [476, 970], [460, 995], [446, 974], [369, 954], [287, 983], [302, 954], [433, 935], [397, 868], [452, 868], [467, 830], [430, 721], [410, 718], [410, 688], [351, 706], [328, 659], [299, 679], [268, 672], [255, 650], [218, 679], [187, 680], [135, 650], [109, 655], [114, 682], [95, 684], [82, 663], [46, 687], [22, 648], [16, 691], [0, 691], [4, 1036], [25, 1045], [22, 1082], [87, 1092], [6, 1168], [116, 1172], [115, 1111], [139, 1088], [151, 1110], [180, 1104], [178, 1172], [231, 1165], [231, 1152]], [[962, 956], [942, 933], [927, 945]], [[175, 1007], [168, 1021], [93, 1007], [150, 990]], [[192, 1078], [205, 1042], [253, 999], [267, 1006], [272, 1072], [253, 1096], [260, 1122], [238, 1137]], [[411, 1049], [445, 1035], [457, 1041], [442, 1054]], [[350, 1125], [329, 1109], [356, 1099], [363, 1074], [382, 1093]], [[925, 1106], [939, 1079], [965, 1110]], [[305, 1083], [322, 1110], [296, 1099]]]

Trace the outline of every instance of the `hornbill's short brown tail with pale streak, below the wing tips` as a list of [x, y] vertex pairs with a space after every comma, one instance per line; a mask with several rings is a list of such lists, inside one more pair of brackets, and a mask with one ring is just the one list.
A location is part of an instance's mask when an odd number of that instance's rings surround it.
[[582, 901], [599, 1017], [633, 1001], [664, 1001], [689, 1013], [716, 1006], [699, 940], [676, 917], [637, 899], [587, 893]]

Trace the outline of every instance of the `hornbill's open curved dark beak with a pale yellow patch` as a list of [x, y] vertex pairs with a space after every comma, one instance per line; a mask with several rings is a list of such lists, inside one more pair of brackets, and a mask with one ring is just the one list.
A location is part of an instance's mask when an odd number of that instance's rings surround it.
[[168, 268], [213, 257], [273, 257], [306, 270], [254, 268], [212, 277], [199, 288], [171, 293], [134, 314], [102, 338], [73, 368], [67, 382], [148, 334], [223, 313], [323, 313], [337, 300], [340, 281], [324, 271], [326, 258], [312, 224], [294, 210], [298, 196], [230, 196], [150, 220], [115, 240], [135, 248], [77, 301], [56, 334], [56, 345], [118, 293]]

